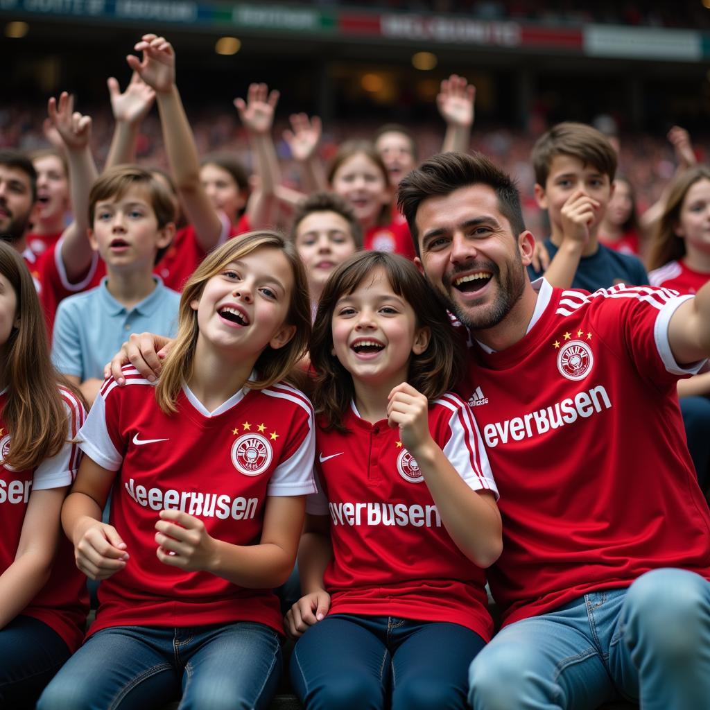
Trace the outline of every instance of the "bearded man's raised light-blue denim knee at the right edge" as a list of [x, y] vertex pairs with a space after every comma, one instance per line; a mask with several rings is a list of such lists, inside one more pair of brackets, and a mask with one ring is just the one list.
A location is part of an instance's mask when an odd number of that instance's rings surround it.
[[609, 665], [644, 710], [696, 710], [710, 702], [710, 582], [655, 569], [629, 587]]

